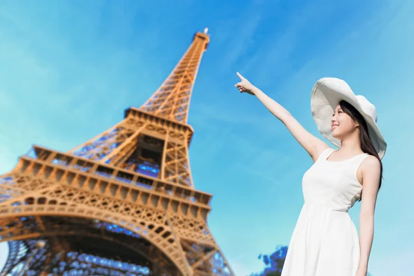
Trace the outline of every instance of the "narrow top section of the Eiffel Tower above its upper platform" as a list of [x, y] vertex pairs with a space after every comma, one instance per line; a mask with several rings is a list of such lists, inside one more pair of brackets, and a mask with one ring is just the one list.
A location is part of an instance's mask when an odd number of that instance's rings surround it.
[[157, 91], [144, 103], [141, 110], [181, 124], [187, 123], [188, 108], [193, 86], [210, 38], [208, 28], [196, 32], [193, 42], [170, 75]]

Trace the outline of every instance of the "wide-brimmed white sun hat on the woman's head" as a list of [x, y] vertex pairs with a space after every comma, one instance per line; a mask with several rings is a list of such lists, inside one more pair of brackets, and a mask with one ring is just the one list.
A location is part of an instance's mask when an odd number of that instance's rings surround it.
[[347, 101], [364, 117], [368, 126], [368, 135], [373, 141], [375, 150], [380, 159], [384, 157], [386, 142], [377, 126], [377, 111], [375, 106], [366, 97], [355, 95], [348, 83], [342, 79], [325, 77], [319, 79], [312, 89], [311, 110], [317, 129], [321, 134], [338, 148], [341, 141], [331, 135], [331, 118], [339, 101]]

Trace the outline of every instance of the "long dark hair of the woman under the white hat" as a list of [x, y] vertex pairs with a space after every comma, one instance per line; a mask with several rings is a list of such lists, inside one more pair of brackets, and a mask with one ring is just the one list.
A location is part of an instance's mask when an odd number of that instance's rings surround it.
[[[368, 155], [373, 155], [377, 157], [378, 161], [380, 161], [381, 164], [381, 174], [380, 174], [380, 187], [382, 184], [382, 161], [380, 156], [377, 153], [377, 150], [374, 148], [373, 141], [371, 141], [371, 138], [369, 137], [368, 132], [368, 126], [366, 124], [366, 121], [364, 117], [362, 117], [361, 113], [359, 113], [356, 108], [354, 108], [350, 103], [347, 101], [339, 101], [339, 106], [341, 106], [342, 111], [344, 111], [346, 114], [348, 114], [353, 121], [355, 121], [357, 124], [359, 124], [359, 141], [361, 142], [361, 150], [365, 153], [368, 153]], [[362, 197], [362, 195], [361, 195]], [[361, 201], [361, 198], [359, 198], [359, 201]]]

